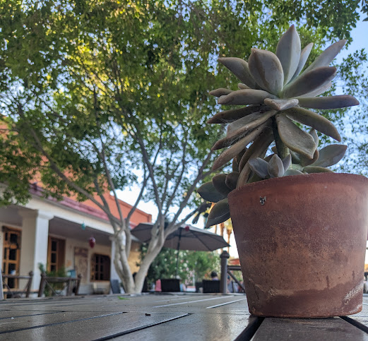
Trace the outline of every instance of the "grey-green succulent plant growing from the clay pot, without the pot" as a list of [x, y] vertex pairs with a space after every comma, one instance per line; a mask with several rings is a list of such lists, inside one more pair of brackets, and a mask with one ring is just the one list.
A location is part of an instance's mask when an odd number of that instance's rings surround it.
[[[233, 160], [230, 174], [217, 174], [198, 189], [203, 199], [215, 203], [206, 227], [230, 218], [227, 195], [233, 189], [272, 177], [331, 172], [326, 167], [343, 157], [345, 145], [328, 145], [317, 150], [316, 131], [338, 141], [341, 138], [328, 119], [309, 109], [359, 104], [350, 95], [319, 96], [332, 85], [336, 68], [329, 64], [345, 42], [332, 44], [302, 71], [313, 44], [301, 49], [299, 35], [292, 25], [280, 38], [275, 54], [251, 49], [248, 62], [232, 57], [218, 59], [241, 83], [239, 90], [220, 88], [210, 95], [218, 97], [218, 104], [242, 107], [218, 112], [207, 122], [227, 124], [226, 136], [212, 148], [226, 148], [215, 160], [213, 170]], [[302, 130], [300, 125], [311, 127], [311, 131]], [[265, 157], [273, 142], [275, 154]]]

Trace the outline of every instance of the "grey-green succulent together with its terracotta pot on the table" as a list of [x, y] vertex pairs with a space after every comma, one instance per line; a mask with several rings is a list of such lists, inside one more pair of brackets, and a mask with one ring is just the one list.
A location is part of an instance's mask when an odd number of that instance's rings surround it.
[[227, 124], [226, 136], [213, 145], [226, 148], [213, 169], [232, 160], [232, 172], [215, 175], [198, 193], [215, 203], [208, 227], [232, 218], [249, 311], [256, 316], [341, 316], [362, 309], [368, 180], [326, 168], [346, 146], [318, 150], [316, 131], [338, 141], [340, 135], [309, 110], [359, 104], [349, 95], [316, 97], [331, 87], [336, 68], [328, 65], [344, 44], [332, 44], [302, 71], [312, 44], [301, 49], [292, 25], [275, 54], [252, 49], [248, 62], [219, 59], [241, 81], [239, 90], [210, 92], [219, 104], [242, 106], [208, 121]]

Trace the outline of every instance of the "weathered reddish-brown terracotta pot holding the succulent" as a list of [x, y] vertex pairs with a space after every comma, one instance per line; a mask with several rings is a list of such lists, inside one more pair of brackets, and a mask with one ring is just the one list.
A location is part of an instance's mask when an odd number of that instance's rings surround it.
[[232, 191], [229, 204], [252, 314], [326, 317], [362, 310], [367, 178], [269, 179]]

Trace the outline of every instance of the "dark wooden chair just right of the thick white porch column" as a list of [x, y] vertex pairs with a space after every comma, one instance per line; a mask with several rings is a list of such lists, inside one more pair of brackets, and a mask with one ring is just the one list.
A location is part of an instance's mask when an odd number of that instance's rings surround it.
[[[64, 290], [66, 296], [71, 296], [73, 292], [75, 295], [78, 295], [81, 278], [82, 275], [77, 277], [47, 277], [46, 273], [42, 273], [38, 297], [43, 296], [46, 287], [51, 290], [52, 296], [61, 296]], [[58, 284], [59, 287], [56, 288]]]

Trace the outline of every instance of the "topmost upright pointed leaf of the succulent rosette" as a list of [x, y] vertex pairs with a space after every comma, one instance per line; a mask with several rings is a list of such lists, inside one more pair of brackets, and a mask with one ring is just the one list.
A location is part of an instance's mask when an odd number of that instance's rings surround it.
[[276, 56], [280, 60], [284, 71], [284, 84], [294, 76], [300, 58], [300, 38], [295, 26], [290, 28], [281, 36], [276, 47]]

